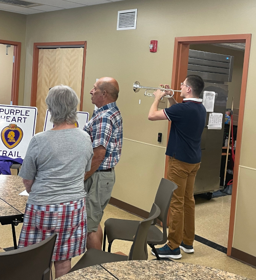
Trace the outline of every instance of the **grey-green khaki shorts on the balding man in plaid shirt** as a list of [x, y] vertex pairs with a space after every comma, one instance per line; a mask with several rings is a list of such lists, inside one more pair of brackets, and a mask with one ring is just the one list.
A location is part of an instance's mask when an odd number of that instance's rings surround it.
[[94, 172], [86, 181], [87, 232], [96, 232], [115, 184], [115, 170]]

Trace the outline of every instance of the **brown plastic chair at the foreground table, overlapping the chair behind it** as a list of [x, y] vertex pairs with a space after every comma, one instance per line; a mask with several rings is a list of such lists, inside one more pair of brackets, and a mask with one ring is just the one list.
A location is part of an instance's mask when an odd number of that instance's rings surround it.
[[147, 231], [150, 228], [152, 222], [160, 214], [160, 209], [156, 204], [153, 204], [152, 215], [138, 223], [137, 232], [135, 232], [135, 237], [133, 245], [131, 247], [129, 256], [123, 256], [118, 254], [113, 254], [105, 251], [100, 251], [96, 249], [87, 250], [83, 256], [79, 259], [77, 264], [69, 271], [73, 272], [81, 268], [101, 265], [105, 263], [112, 262], [122, 262], [122, 261], [138, 261], [147, 259], [147, 246], [146, 246], [146, 236]]

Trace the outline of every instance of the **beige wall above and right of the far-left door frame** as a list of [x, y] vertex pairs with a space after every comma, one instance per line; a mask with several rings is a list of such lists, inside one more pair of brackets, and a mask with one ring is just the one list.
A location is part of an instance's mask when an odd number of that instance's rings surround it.
[[[18, 105], [23, 105], [25, 76], [26, 15], [0, 11], [0, 40], [22, 43]], [[2, 64], [2, 61], [0, 61]]]

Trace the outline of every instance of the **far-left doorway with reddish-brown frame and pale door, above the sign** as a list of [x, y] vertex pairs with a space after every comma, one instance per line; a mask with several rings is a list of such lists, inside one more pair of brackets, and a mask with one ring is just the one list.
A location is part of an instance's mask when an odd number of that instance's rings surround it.
[[0, 104], [18, 105], [21, 47], [20, 42], [0, 40]]

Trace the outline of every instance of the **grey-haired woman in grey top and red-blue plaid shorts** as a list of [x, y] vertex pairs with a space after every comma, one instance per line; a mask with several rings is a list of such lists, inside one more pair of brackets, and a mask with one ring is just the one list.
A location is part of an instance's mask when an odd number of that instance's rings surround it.
[[87, 237], [84, 173], [93, 148], [88, 133], [76, 128], [79, 99], [68, 86], [50, 89], [46, 104], [54, 128], [37, 133], [29, 144], [19, 176], [29, 198], [18, 247], [40, 242], [53, 233], [56, 278], [71, 269], [71, 258], [84, 253]]

